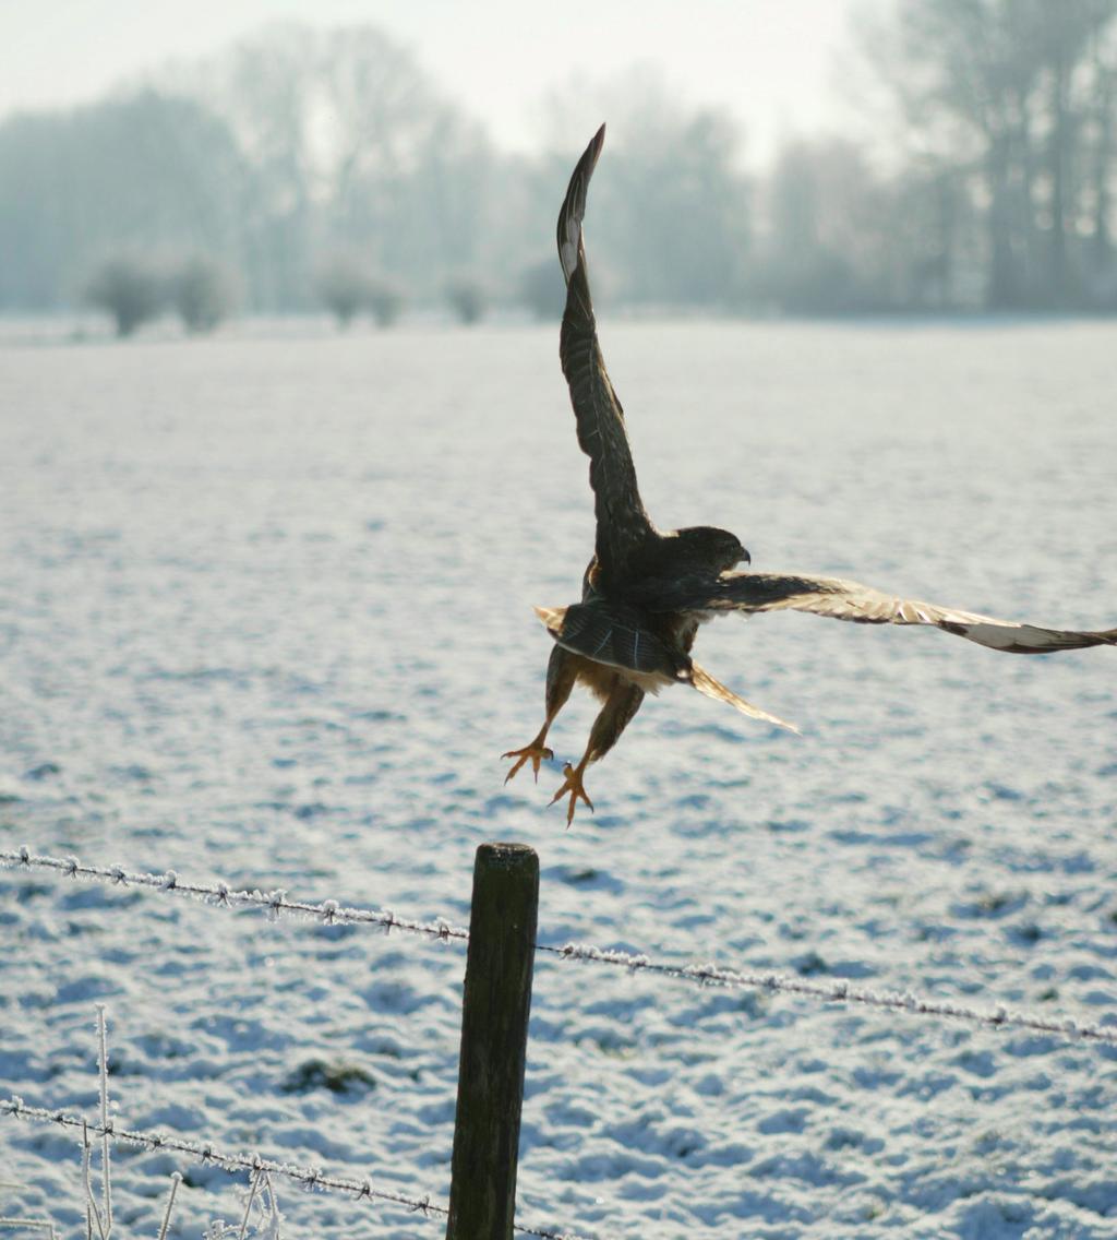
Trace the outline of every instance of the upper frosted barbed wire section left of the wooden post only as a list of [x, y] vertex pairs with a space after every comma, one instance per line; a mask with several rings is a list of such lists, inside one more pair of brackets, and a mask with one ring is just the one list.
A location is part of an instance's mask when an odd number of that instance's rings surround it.
[[148, 887], [156, 892], [172, 895], [188, 895], [213, 906], [227, 909], [263, 909], [273, 918], [284, 913], [314, 918], [326, 925], [361, 924], [382, 926], [384, 930], [404, 930], [420, 934], [428, 939], [469, 939], [469, 930], [454, 926], [441, 919], [436, 921], [412, 921], [398, 918], [391, 909], [357, 909], [340, 904], [337, 900], [322, 900], [310, 904], [306, 900], [291, 900], [283, 888], [272, 892], [237, 890], [228, 883], [192, 883], [180, 879], [175, 870], [162, 874], [145, 874], [126, 870], [123, 866], [83, 866], [77, 857], [38, 857], [26, 847], [15, 852], [0, 852], [0, 866], [21, 866], [26, 869], [53, 869], [68, 878], [86, 878], [109, 883], [114, 887]]

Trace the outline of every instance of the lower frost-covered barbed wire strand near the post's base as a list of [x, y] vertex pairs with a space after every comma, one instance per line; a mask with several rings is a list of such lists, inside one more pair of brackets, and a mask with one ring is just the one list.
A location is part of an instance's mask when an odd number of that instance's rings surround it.
[[[249, 1171], [253, 1174], [264, 1172], [269, 1176], [284, 1176], [293, 1179], [304, 1188], [322, 1192], [350, 1193], [356, 1200], [387, 1202], [391, 1205], [399, 1205], [410, 1214], [422, 1214], [426, 1218], [449, 1218], [450, 1210], [445, 1205], [439, 1205], [426, 1197], [408, 1197], [404, 1193], [395, 1193], [392, 1189], [373, 1188], [368, 1179], [353, 1179], [348, 1176], [332, 1176], [317, 1167], [299, 1167], [294, 1163], [279, 1162], [274, 1158], [262, 1158], [259, 1154], [228, 1153], [217, 1149], [212, 1143], [187, 1141], [183, 1137], [166, 1136], [162, 1132], [141, 1132], [133, 1128], [120, 1128], [115, 1123], [97, 1123], [81, 1115], [68, 1115], [66, 1111], [52, 1111], [43, 1106], [27, 1106], [16, 1094], [6, 1099], [0, 1099], [0, 1115], [10, 1115], [19, 1120], [31, 1120], [38, 1123], [57, 1123], [63, 1128], [81, 1128], [94, 1136], [108, 1137], [120, 1145], [135, 1146], [150, 1151], [170, 1151], [172, 1153], [187, 1154], [201, 1162], [221, 1167], [223, 1171], [238, 1172]], [[514, 1229], [523, 1235], [538, 1236], [541, 1240], [584, 1240], [583, 1236], [573, 1231], [548, 1231], [543, 1228], [529, 1228], [516, 1223]]]

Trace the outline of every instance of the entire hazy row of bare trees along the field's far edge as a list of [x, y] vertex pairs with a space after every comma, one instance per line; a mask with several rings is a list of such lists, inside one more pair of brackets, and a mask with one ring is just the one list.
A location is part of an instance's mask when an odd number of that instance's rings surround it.
[[0, 309], [73, 304], [126, 248], [206, 254], [253, 311], [387, 321], [405, 294], [466, 320], [490, 299], [550, 312], [555, 206], [603, 117], [603, 300], [1117, 309], [1115, 15], [893, 0], [859, 33], [888, 119], [788, 143], [764, 176], [726, 115], [650, 71], [553, 94], [542, 153], [512, 157], [379, 31], [272, 29], [157, 88], [0, 125]]

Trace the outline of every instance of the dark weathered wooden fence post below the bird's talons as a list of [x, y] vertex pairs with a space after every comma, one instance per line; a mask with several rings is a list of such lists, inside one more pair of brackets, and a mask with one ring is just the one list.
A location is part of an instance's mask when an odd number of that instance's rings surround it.
[[461, 1011], [446, 1240], [512, 1240], [539, 858], [481, 844]]

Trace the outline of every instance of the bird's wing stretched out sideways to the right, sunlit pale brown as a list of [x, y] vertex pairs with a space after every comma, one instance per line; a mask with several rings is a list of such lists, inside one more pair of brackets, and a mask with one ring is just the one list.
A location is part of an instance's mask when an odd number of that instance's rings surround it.
[[[722, 573], [705, 589], [689, 589], [683, 604], [704, 611], [811, 611], [855, 624], [934, 625], [946, 632], [1012, 655], [1046, 655], [1086, 646], [1117, 646], [1117, 629], [1081, 632], [1041, 629], [1015, 620], [994, 620], [973, 611], [957, 611], [885, 594], [859, 582], [837, 577], [784, 577], [772, 573]], [[681, 599], [674, 600], [676, 604]]]

